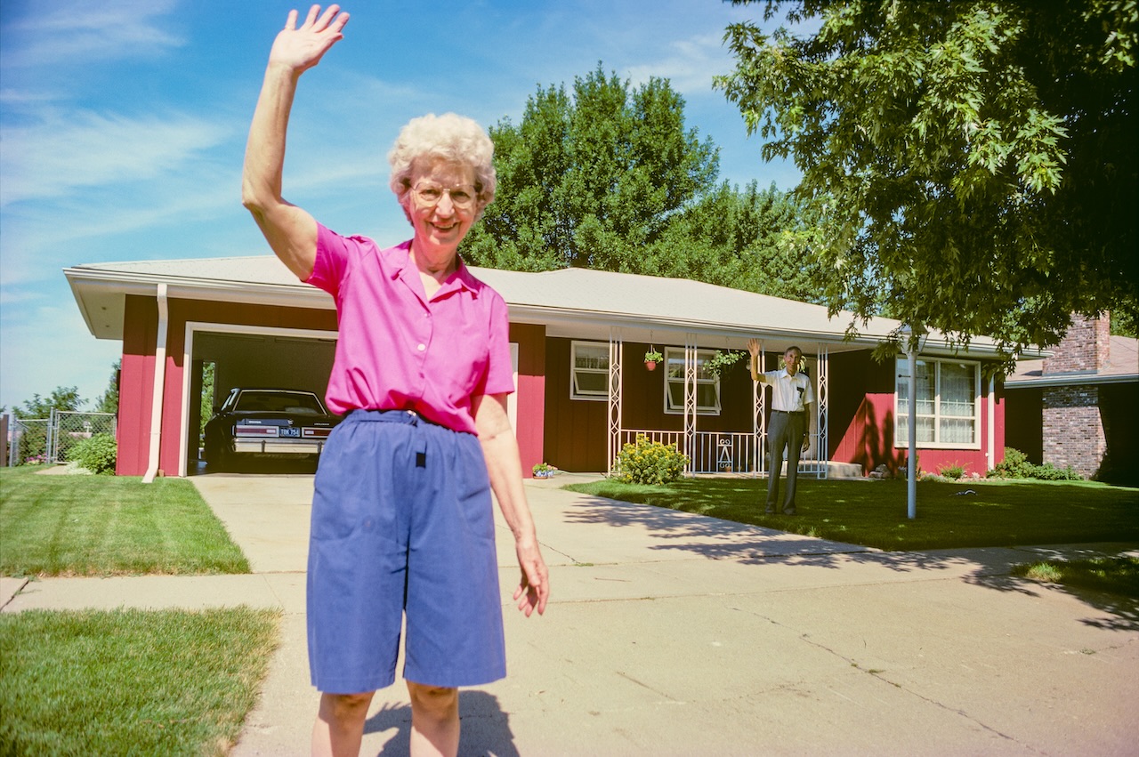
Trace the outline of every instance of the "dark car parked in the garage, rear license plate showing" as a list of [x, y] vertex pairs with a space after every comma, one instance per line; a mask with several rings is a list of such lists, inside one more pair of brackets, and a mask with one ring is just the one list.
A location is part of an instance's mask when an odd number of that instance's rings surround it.
[[314, 392], [238, 387], [206, 423], [205, 461], [223, 470], [241, 460], [316, 458], [338, 422]]

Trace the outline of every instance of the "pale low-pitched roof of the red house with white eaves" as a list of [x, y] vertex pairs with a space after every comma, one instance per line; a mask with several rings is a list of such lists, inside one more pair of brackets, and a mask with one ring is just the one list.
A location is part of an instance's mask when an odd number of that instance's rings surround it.
[[[531, 273], [472, 266], [510, 307], [510, 319], [542, 323], [549, 336], [607, 339], [611, 330], [625, 340], [685, 344], [695, 334], [702, 347], [746, 346], [753, 336], [769, 351], [802, 342], [805, 352], [825, 343], [830, 352], [872, 347], [896, 329], [886, 318], [859, 322], [859, 336], [844, 339], [851, 313], [827, 315], [812, 305], [687, 279], [563, 269]], [[165, 283], [171, 298], [240, 302], [333, 310], [331, 297], [302, 283], [272, 255], [174, 261], [92, 263], [65, 269], [88, 328], [98, 338], [121, 339], [125, 295], [155, 296]], [[722, 343], [722, 344], [721, 344]], [[924, 354], [951, 354], [934, 332]], [[997, 354], [985, 337], [974, 338], [972, 357]]]

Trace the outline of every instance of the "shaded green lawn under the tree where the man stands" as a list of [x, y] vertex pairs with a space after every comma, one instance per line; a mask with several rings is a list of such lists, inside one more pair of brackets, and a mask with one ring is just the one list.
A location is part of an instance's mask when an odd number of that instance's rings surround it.
[[1092, 482], [919, 482], [913, 520], [898, 479], [800, 478], [797, 516], [764, 515], [767, 482], [755, 478], [566, 488], [884, 550], [1139, 542], [1139, 489]]

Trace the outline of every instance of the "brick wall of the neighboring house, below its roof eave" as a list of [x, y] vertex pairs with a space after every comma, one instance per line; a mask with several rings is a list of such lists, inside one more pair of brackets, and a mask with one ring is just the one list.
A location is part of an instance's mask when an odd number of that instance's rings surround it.
[[1058, 386], [1043, 390], [1043, 460], [1071, 467], [1084, 477], [1097, 470], [1107, 452], [1099, 413], [1099, 386]]

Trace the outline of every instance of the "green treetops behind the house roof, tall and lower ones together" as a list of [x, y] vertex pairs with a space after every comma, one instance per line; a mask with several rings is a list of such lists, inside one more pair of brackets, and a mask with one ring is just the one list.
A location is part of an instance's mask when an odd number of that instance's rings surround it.
[[716, 183], [719, 148], [685, 129], [667, 80], [631, 88], [600, 65], [572, 91], [539, 87], [490, 130], [498, 191], [467, 262], [688, 278], [820, 301], [818, 211], [773, 186]]

